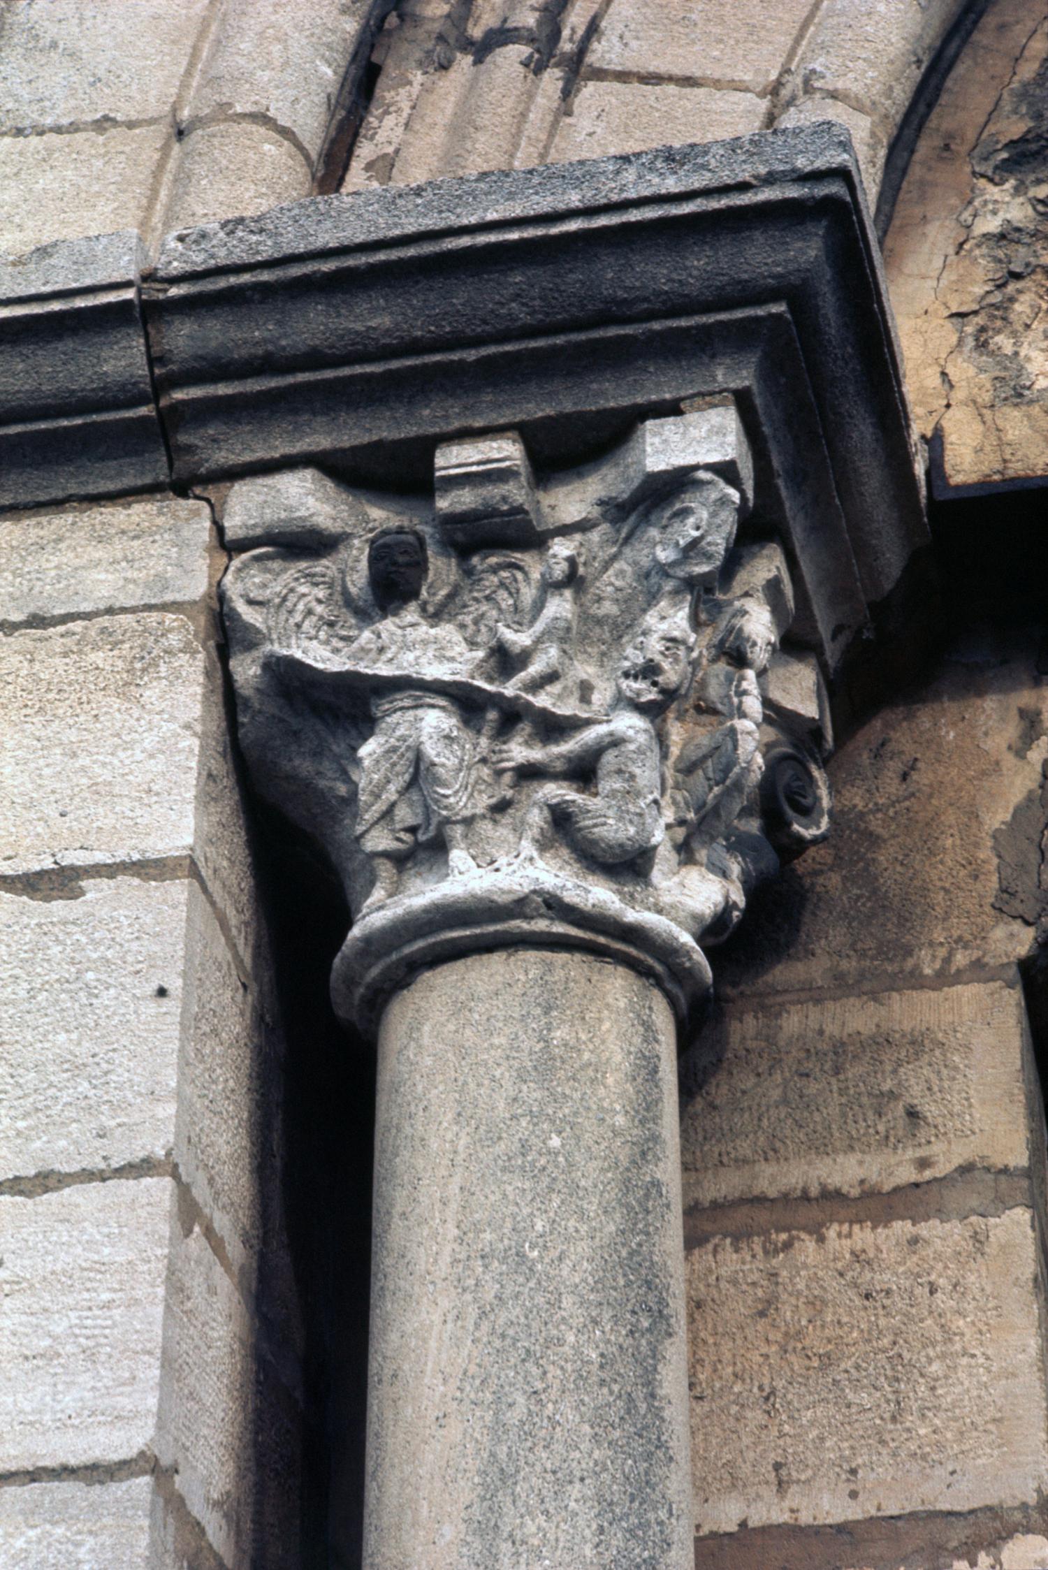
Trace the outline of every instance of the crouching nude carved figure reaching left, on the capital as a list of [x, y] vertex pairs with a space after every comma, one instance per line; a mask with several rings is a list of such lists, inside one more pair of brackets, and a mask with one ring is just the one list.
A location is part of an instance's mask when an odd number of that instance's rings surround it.
[[657, 848], [662, 757], [653, 721], [686, 686], [692, 647], [682, 622], [645, 628], [621, 664], [609, 719], [544, 747], [510, 741], [496, 749], [496, 769], [593, 777], [593, 793], [552, 783], [538, 791], [524, 823], [524, 854], [538, 854], [551, 821], [576, 849], [606, 865]]

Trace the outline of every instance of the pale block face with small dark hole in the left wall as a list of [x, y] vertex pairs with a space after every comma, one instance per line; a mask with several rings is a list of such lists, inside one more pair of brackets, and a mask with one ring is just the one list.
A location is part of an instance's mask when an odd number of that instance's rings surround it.
[[0, 1179], [171, 1154], [185, 918], [185, 882], [0, 895]]

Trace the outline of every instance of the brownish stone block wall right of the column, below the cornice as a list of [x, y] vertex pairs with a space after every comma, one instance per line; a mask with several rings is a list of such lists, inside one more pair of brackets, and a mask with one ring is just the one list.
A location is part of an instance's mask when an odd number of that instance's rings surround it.
[[717, 956], [681, 1130], [703, 1570], [1042, 1564], [1028, 648], [968, 634], [860, 728], [833, 837]]

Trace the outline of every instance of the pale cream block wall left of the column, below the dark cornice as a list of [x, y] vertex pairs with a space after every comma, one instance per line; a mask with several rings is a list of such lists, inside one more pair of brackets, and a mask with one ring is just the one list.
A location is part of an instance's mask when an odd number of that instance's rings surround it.
[[3, 1562], [279, 1564], [298, 1328], [286, 1247], [265, 1264], [279, 1049], [223, 556], [209, 507], [162, 495], [11, 513], [0, 539], [25, 567], [0, 576]]

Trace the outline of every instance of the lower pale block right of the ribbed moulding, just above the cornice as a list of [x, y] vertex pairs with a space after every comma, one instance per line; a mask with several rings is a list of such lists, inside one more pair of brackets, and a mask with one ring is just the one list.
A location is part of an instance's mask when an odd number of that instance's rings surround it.
[[759, 130], [766, 105], [751, 93], [717, 88], [585, 82], [562, 119], [551, 162], [642, 152], [676, 141], [720, 141]]

